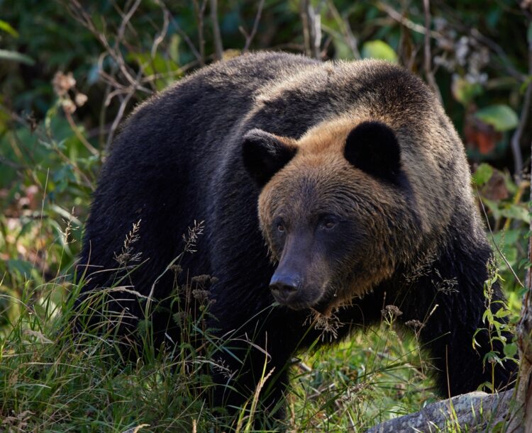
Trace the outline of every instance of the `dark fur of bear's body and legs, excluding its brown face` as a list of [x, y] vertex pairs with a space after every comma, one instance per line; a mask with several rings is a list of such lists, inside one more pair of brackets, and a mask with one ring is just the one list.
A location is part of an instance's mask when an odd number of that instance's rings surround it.
[[[337, 315], [345, 324], [340, 327], [340, 337], [354, 328], [379, 322], [384, 304], [399, 306], [403, 312], [401, 322], [423, 322], [438, 304], [421, 331], [421, 341], [430, 349], [431, 364], [438, 370], [440, 392], [456, 395], [475, 390], [490, 380], [489, 369], [484, 371], [482, 367], [482, 356], [489, 350], [487, 336], [481, 333], [477, 337], [482, 342], [477, 353], [472, 349], [472, 334], [484, 327], [482, 286], [492, 252], [475, 215], [472, 198], [467, 196], [470, 190], [465, 184], [469, 174], [462, 167], [465, 164], [462, 145], [419, 79], [389, 64], [368, 65], [362, 72], [350, 73], [349, 64], [324, 67], [305, 57], [262, 53], [201, 69], [144, 103], [129, 118], [113, 144], [94, 195], [81, 263], [98, 266], [89, 272], [116, 268], [115, 253], [121, 252], [133, 223], [142, 220], [134, 250], [142, 252], [141, 260], [146, 262], [130, 278], [135, 290], [144, 295], [150, 293], [155, 278], [182, 251], [182, 234], [187, 227], [194, 220], [205, 221], [205, 234], [199, 238], [197, 252], [185, 256], [182, 266], [189, 276], [209, 274], [218, 278], [211, 288], [211, 298], [216, 300], [211, 313], [216, 320], [210, 325], [218, 328], [219, 335], [240, 338], [229, 344], [233, 354], [243, 358], [250, 352], [243, 366], [232, 356], [221, 354], [227, 366], [240, 373], [235, 382], [215, 373], [215, 381], [228, 382], [244, 396], [255, 390], [265, 355], [242, 342], [245, 335], [254, 337], [255, 344], [265, 347], [270, 356], [267, 371], [275, 368], [275, 383], [264, 390], [268, 405], [282, 398], [291, 356], [296, 350], [309, 347], [321, 332], [303, 325], [309, 310], [271, 307], [274, 299], [268, 285], [275, 265], [268, 257], [258, 222], [260, 187], [243, 164], [243, 136], [259, 128], [288, 137], [287, 140], [297, 140], [323, 119], [352, 107], [364, 108], [368, 116], [375, 114], [375, 118], [362, 120], [383, 121], [379, 116], [384, 112], [387, 119], [395, 121], [393, 128], [401, 142], [401, 158], [408, 161], [415, 155], [422, 162], [433, 152], [438, 167], [434, 171], [437, 179], [430, 172], [420, 173], [416, 167], [406, 167], [403, 179], [394, 186], [399, 191], [397, 203], [404, 205], [394, 210], [390, 227], [396, 227], [397, 236], [408, 237], [397, 242], [404, 245], [408, 241], [411, 246], [379, 253], [397, 256], [393, 257], [396, 271], [363, 298], [353, 300], [353, 305], [338, 310]], [[303, 79], [305, 85], [281, 87], [278, 94], [266, 92], [266, 96], [255, 101], [258, 94], [265, 93], [264, 89], [279, 86], [284, 77], [301, 71], [310, 74], [306, 81]], [[437, 128], [438, 135], [419, 139], [419, 131], [426, 130], [429, 122]], [[247, 140], [253, 142], [256, 135], [248, 135]], [[391, 145], [394, 152], [394, 137], [384, 135], [384, 145]], [[411, 135], [414, 137], [409, 141]], [[447, 152], [448, 157], [441, 159], [436, 155], [437, 147], [431, 147], [428, 140], [436, 145], [451, 143], [455, 154]], [[272, 152], [277, 151], [275, 143], [272, 139]], [[383, 164], [390, 164], [387, 170], [375, 164], [362, 168], [375, 170], [377, 178], [386, 178], [390, 170], [399, 170], [396, 156], [399, 153], [382, 160]], [[260, 155], [249, 149], [245, 148], [244, 157], [251, 165], [261, 164]], [[279, 167], [269, 167], [255, 180], [267, 182], [287, 163], [290, 154], [283, 157], [287, 160]], [[360, 154], [354, 152], [352, 157], [357, 159]], [[427, 195], [430, 200], [423, 198], [416, 192], [421, 191], [416, 188], [422, 182], [433, 183], [444, 193], [435, 190]], [[423, 230], [401, 235], [396, 221], [403, 217], [405, 221], [417, 222]], [[436, 254], [434, 261], [423, 275], [406, 282], [404, 274], [411, 269], [406, 269], [410, 266], [406, 265], [408, 260], [401, 257], [411, 256], [411, 264], [412, 257], [429, 249]], [[457, 279], [457, 290], [438, 291], [435, 282], [440, 279]], [[171, 272], [162, 276], [155, 286], [155, 298], [167, 297], [172, 281]], [[109, 272], [92, 274], [84, 293], [112, 283]], [[142, 316], [133, 295], [121, 293], [120, 299], [114, 297], [113, 310], [128, 308], [132, 315]], [[494, 298], [502, 299], [499, 288], [495, 289]], [[155, 330], [165, 330], [168, 322], [172, 322], [168, 313], [158, 313]], [[127, 324], [135, 325], [135, 320], [126, 320]], [[177, 330], [168, 332], [178, 338]], [[497, 386], [506, 385], [512, 371], [511, 365], [506, 365], [506, 369], [497, 367]], [[216, 403], [243, 403], [243, 395], [223, 387], [218, 389]]]

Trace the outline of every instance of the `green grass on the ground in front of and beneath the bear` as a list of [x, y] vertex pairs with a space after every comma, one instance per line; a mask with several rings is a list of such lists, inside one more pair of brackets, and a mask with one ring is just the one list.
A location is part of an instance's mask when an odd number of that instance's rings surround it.
[[[73, 296], [58, 300], [65, 288]], [[260, 387], [250, 395], [250, 411], [232, 424], [209, 410], [209, 348], [201, 354], [185, 339], [155, 354], [146, 339], [139, 360], [123, 363], [112, 328], [102, 337], [82, 329], [73, 338], [77, 291], [78, 285], [58, 277], [35, 288], [28, 281], [21, 298], [10, 299], [18, 313], [1, 328], [0, 430], [253, 430], [253, 417], [262, 416]], [[365, 335], [294, 360], [288, 417], [273, 428], [361, 431], [433, 400], [416, 339], [383, 320]]]

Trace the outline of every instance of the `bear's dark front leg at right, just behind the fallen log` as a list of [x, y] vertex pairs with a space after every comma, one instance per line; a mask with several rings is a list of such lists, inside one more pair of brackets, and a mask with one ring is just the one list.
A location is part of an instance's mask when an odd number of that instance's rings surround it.
[[[504, 308], [498, 283], [493, 284], [489, 300], [484, 295], [490, 258], [487, 247], [478, 248], [475, 254], [455, 249], [452, 260], [440, 257], [428, 275], [401, 295], [400, 318], [403, 322], [419, 320], [421, 344], [431, 354], [428, 362], [438, 371], [442, 395], [452, 397], [477, 388], [501, 390], [514, 379], [516, 362], [506, 360], [501, 365], [489, 356], [494, 352], [504, 358], [504, 344], [482, 320], [488, 305], [493, 314]], [[408, 302], [410, 298], [415, 302]], [[511, 342], [511, 333], [502, 332], [502, 337]]]

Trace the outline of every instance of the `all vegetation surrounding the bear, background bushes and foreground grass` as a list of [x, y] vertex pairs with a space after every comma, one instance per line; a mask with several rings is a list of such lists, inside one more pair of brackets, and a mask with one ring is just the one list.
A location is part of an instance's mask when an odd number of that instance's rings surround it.
[[[167, 3], [0, 0], [0, 430], [262, 425], [256, 395], [233, 424], [205, 403], [209, 356], [223, 342], [206, 338], [201, 317], [183, 322], [183, 342], [172, 349], [157, 354], [147, 340], [133, 363], [117, 362], [112, 330], [74, 339], [71, 329], [82, 222], [121, 121], [155, 91], [248, 50], [385, 58], [433, 86], [465, 141], [498, 252], [493, 278], [516, 321], [530, 265], [523, 167], [532, 139], [531, 1]], [[487, 303], [492, 283], [484, 287]], [[398, 314], [385, 308], [382, 325], [365, 336], [294, 360], [287, 419], [263, 427], [361, 431], [437, 400], [419, 324], [397, 329]], [[486, 316], [494, 338], [504, 314]], [[206, 344], [189, 344], [196, 338]], [[487, 368], [515, 352], [507, 342]], [[450, 422], [449, 430], [459, 429]]]

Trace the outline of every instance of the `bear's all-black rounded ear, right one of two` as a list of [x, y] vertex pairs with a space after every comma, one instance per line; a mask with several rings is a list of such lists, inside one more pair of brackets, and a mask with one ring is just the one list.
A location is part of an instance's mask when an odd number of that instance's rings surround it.
[[381, 122], [363, 122], [345, 140], [344, 157], [354, 167], [397, 184], [401, 148], [394, 131]]

